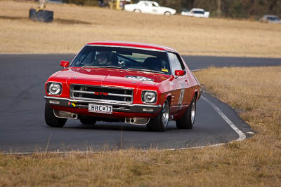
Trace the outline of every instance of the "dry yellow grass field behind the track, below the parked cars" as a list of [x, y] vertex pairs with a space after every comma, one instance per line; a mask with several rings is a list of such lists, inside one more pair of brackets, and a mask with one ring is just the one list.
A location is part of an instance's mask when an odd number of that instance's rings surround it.
[[77, 53], [90, 41], [156, 43], [185, 55], [281, 57], [281, 25], [47, 4], [54, 22], [28, 20], [37, 4], [0, 1], [0, 53]]

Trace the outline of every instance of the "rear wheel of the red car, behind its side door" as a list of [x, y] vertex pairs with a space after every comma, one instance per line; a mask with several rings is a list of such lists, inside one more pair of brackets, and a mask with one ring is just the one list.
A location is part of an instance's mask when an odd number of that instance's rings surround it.
[[193, 124], [195, 122], [196, 115], [196, 97], [193, 97], [190, 106], [185, 111], [183, 116], [176, 120], [176, 127], [178, 129], [192, 129]]

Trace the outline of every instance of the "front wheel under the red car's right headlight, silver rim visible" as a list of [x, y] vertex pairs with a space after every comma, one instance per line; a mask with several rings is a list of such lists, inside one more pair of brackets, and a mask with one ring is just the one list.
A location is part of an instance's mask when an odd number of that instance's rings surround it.
[[166, 127], [168, 127], [169, 116], [170, 116], [170, 102], [169, 99], [166, 99], [159, 115], [155, 118], [150, 119], [150, 122], [147, 125], [148, 130], [160, 131], [160, 132], [165, 131]]

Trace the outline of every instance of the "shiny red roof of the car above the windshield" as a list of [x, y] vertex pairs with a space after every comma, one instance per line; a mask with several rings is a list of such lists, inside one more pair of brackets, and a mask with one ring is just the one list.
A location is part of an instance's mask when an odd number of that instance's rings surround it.
[[171, 51], [176, 52], [176, 50], [172, 48], [168, 48], [165, 46], [158, 46], [150, 43], [138, 43], [138, 42], [129, 42], [129, 41], [94, 41], [91, 43], [87, 43], [87, 46], [118, 46], [125, 48], [143, 48], [146, 50], [163, 50], [163, 51]]

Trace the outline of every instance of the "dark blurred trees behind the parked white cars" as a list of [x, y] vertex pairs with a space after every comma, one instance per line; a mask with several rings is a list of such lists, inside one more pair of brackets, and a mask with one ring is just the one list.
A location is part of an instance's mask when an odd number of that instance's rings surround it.
[[[63, 0], [69, 4], [97, 6], [98, 0]], [[153, 1], [153, 0], [152, 0]], [[211, 16], [258, 19], [265, 14], [281, 17], [281, 0], [154, 0], [160, 6], [175, 8], [178, 13], [191, 8], [204, 8]], [[138, 0], [133, 0], [137, 3]]]

